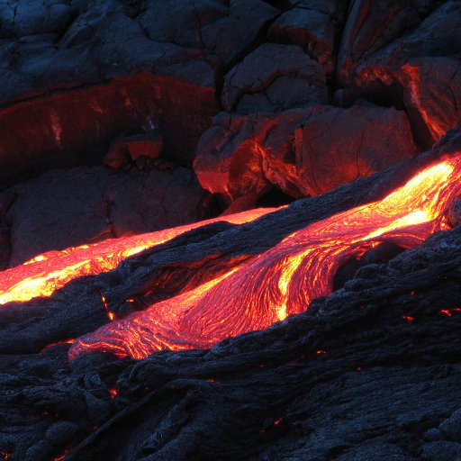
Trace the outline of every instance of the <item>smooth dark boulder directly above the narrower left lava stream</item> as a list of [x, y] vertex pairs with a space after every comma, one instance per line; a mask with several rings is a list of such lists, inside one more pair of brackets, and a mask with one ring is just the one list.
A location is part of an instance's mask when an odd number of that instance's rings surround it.
[[0, 194], [0, 203], [5, 203], [0, 216], [7, 230], [0, 260], [16, 266], [50, 249], [199, 221], [208, 201], [192, 172], [182, 167], [147, 175], [79, 167], [15, 185]]

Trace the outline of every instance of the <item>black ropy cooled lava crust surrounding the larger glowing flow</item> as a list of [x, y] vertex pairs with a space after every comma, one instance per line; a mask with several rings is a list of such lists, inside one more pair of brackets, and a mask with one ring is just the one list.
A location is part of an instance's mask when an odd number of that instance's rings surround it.
[[4, 306], [0, 449], [34, 461], [63, 454], [456, 459], [461, 228], [362, 267], [307, 313], [210, 350], [161, 352], [139, 362], [93, 354], [71, 363], [66, 344], [40, 352], [47, 341], [106, 321], [101, 290], [117, 311], [146, 283], [161, 285], [163, 296], [202, 283], [232, 258], [251, 258], [310, 221], [383, 197], [438, 155], [412, 158], [244, 226], [194, 230], [48, 299]]

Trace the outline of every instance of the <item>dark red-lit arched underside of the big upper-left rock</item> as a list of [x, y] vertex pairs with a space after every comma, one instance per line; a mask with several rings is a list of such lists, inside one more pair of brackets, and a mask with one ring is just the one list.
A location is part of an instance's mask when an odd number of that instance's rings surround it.
[[149, 74], [13, 104], [0, 109], [0, 184], [50, 167], [99, 163], [127, 132], [160, 132], [168, 155], [188, 163], [215, 107], [212, 88]]

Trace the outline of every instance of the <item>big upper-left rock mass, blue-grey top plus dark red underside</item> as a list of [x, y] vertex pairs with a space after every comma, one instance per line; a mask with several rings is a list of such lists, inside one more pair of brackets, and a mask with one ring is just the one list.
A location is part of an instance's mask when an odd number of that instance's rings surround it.
[[[217, 112], [212, 58], [149, 39], [122, 2], [75, 4], [64, 29], [39, 33], [51, 10], [70, 7], [22, 3], [16, 19], [30, 24], [2, 41], [2, 188], [50, 167], [97, 163], [123, 134], [160, 132], [168, 155], [190, 164]], [[5, 27], [13, 9], [0, 12]]]

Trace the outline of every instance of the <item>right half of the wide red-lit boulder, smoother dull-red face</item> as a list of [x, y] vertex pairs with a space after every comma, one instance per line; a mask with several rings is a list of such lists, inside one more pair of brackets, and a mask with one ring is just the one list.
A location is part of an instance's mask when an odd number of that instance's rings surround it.
[[330, 108], [303, 123], [297, 137], [298, 175], [312, 195], [369, 176], [417, 151], [406, 114], [393, 108]]

